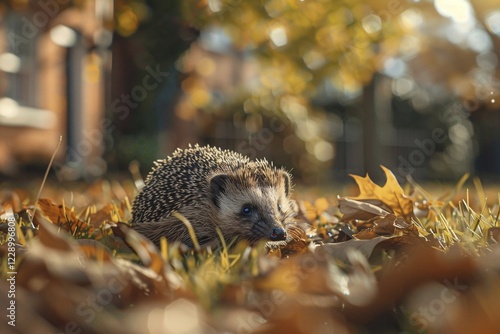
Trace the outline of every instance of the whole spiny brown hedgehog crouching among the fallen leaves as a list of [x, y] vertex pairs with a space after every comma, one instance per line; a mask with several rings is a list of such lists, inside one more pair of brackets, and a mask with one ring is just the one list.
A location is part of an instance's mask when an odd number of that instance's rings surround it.
[[132, 227], [157, 246], [169, 242], [193, 247], [186, 224], [200, 245], [225, 241], [287, 238], [294, 217], [291, 175], [267, 160], [250, 160], [230, 150], [199, 146], [177, 149], [155, 162], [132, 207]]

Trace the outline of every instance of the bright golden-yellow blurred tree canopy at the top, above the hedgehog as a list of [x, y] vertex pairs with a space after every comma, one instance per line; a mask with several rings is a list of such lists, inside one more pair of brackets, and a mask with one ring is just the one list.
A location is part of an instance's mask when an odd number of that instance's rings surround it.
[[[262, 91], [314, 96], [331, 81], [346, 93], [371, 81], [399, 49], [401, 1], [184, 1], [199, 29], [221, 26], [237, 49], [252, 49], [266, 68]], [[268, 70], [268, 71], [267, 71]]]

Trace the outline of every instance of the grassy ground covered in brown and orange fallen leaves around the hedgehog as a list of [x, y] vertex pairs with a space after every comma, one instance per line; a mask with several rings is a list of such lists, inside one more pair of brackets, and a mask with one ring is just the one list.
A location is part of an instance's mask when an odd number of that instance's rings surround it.
[[[498, 333], [498, 193], [445, 195], [383, 167], [358, 196], [296, 191], [288, 244], [161, 249], [131, 230], [130, 181], [0, 197], [2, 333]], [[63, 195], [61, 195], [63, 194]], [[441, 193], [440, 193], [441, 194]], [[492, 199], [495, 200], [492, 200]], [[34, 213], [34, 215], [33, 215]], [[8, 267], [8, 218], [16, 263]]]

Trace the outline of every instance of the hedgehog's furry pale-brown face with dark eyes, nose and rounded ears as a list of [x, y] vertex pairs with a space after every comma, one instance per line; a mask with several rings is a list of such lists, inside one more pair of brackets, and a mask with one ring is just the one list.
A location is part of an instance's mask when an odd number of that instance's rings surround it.
[[227, 239], [286, 239], [284, 223], [293, 212], [288, 198], [290, 178], [283, 171], [272, 171], [269, 177], [272, 179], [268, 182], [248, 175], [219, 174], [211, 178], [212, 201]]

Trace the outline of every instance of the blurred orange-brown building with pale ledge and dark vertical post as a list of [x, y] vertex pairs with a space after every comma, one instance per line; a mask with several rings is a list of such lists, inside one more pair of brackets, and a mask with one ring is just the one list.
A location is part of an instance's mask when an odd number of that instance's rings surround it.
[[[113, 1], [8, 1], [0, 7], [0, 170], [102, 174]], [[61, 166], [67, 168], [61, 168]]]

